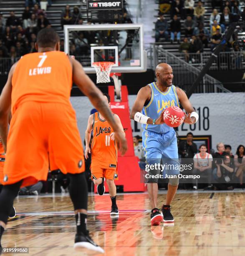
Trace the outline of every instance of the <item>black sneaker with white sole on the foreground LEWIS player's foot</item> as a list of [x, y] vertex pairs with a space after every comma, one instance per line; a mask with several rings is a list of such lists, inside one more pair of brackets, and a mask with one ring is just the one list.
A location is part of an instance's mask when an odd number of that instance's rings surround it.
[[85, 248], [92, 251], [98, 251], [99, 253], [104, 253], [104, 250], [94, 243], [93, 239], [88, 235], [88, 231], [86, 234], [76, 233], [74, 249], [76, 251], [83, 251]]

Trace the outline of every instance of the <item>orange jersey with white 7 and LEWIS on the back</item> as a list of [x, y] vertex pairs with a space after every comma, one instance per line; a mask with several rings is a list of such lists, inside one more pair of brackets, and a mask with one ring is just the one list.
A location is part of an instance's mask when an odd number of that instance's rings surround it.
[[12, 115], [26, 101], [71, 106], [72, 67], [62, 51], [26, 54], [15, 68], [12, 84]]

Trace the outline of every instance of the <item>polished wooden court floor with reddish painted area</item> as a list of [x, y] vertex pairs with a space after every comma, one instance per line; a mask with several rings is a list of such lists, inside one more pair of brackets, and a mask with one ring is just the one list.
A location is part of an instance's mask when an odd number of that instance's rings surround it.
[[[159, 195], [159, 207], [165, 196]], [[119, 218], [111, 218], [108, 195], [88, 200], [88, 229], [105, 255], [245, 255], [242, 191], [180, 190], [172, 203], [175, 223], [156, 227], [150, 225], [146, 193], [118, 195], [117, 204]], [[76, 226], [68, 195], [19, 197], [14, 206], [18, 215], [8, 223], [3, 247], [29, 247], [29, 255], [40, 256], [99, 255], [73, 250]]]

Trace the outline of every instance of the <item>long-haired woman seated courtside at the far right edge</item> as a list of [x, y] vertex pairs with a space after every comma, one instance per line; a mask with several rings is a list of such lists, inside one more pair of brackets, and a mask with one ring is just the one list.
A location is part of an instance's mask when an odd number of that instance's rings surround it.
[[239, 178], [240, 185], [243, 182], [243, 172], [245, 172], [245, 147], [239, 145], [237, 147], [237, 152], [234, 156], [234, 163], [236, 166], [236, 177]]

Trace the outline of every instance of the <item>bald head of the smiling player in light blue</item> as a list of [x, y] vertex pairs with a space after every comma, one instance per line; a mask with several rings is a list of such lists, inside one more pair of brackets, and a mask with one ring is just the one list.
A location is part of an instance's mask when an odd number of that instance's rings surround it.
[[156, 77], [159, 85], [170, 87], [173, 81], [172, 67], [167, 63], [160, 63], [156, 67]]

